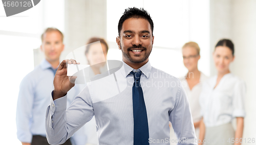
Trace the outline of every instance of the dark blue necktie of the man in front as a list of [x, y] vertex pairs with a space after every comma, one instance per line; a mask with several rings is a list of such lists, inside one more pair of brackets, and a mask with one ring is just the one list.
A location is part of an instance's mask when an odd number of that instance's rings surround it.
[[131, 72], [134, 76], [133, 83], [133, 120], [134, 120], [134, 145], [150, 144], [148, 142], [148, 123], [146, 115], [146, 106], [143, 98], [143, 92], [140, 85], [141, 71]]

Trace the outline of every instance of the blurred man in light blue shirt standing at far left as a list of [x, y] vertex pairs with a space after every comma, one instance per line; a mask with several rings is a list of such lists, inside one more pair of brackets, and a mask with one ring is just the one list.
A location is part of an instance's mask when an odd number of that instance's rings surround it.
[[[23, 145], [49, 144], [46, 139], [45, 113], [50, 103], [59, 57], [64, 49], [63, 34], [57, 28], [47, 28], [41, 35], [41, 41], [40, 49], [44, 52], [45, 59], [24, 77], [19, 87], [16, 125], [17, 138]], [[69, 91], [67, 106], [78, 93], [78, 88]], [[86, 143], [86, 139], [84, 131], [80, 129], [64, 144], [82, 145]]]

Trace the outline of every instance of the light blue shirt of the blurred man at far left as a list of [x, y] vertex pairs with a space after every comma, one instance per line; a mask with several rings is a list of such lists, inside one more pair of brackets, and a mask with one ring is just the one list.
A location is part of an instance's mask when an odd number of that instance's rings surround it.
[[[33, 135], [46, 136], [45, 113], [50, 103], [55, 71], [51, 64], [43, 60], [32, 72], [27, 74], [19, 86], [16, 111], [17, 138], [22, 142], [31, 142]], [[68, 92], [67, 106], [79, 93], [77, 87]], [[78, 131], [72, 137], [75, 144], [85, 144], [84, 131]]]

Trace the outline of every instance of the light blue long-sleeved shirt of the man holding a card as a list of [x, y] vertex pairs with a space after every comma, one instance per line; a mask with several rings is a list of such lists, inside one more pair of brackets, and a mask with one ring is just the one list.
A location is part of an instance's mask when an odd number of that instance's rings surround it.
[[[139, 68], [140, 83], [146, 105], [150, 144], [170, 144], [169, 121], [178, 144], [197, 144], [195, 129], [181, 81], [151, 67], [148, 61]], [[134, 70], [123, 62], [114, 73], [90, 81], [66, 110], [67, 96], [53, 101], [47, 108], [47, 139], [51, 144], [65, 142], [95, 116], [99, 144], [133, 144]], [[98, 75], [100, 76], [100, 75]], [[193, 143], [194, 142], [194, 143]]]

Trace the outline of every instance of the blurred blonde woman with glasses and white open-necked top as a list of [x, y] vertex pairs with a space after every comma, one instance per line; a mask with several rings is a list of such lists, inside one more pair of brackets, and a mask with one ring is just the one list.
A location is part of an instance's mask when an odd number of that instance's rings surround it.
[[[181, 77], [180, 80], [188, 97], [196, 136], [199, 138], [199, 126], [202, 119], [199, 96], [202, 90], [202, 82], [207, 79], [207, 76], [198, 70], [200, 47], [196, 42], [187, 42], [184, 44], [182, 47], [182, 55], [184, 66], [187, 68], [188, 72], [184, 77]], [[173, 129], [171, 130], [171, 139], [176, 139]]]

